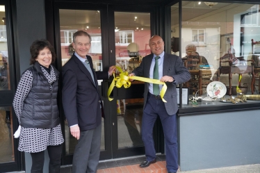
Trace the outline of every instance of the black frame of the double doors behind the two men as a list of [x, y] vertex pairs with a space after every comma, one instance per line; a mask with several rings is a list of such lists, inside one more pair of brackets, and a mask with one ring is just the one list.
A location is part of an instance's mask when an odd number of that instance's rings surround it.
[[[101, 39], [102, 39], [102, 60], [104, 71], [108, 70], [110, 65], [115, 65], [115, 30], [114, 30], [114, 12], [138, 12], [138, 13], [150, 13], [151, 34], [154, 35], [159, 31], [158, 24], [159, 16], [156, 15], [158, 9], [155, 6], [133, 6], [133, 5], [112, 5], [106, 3], [88, 3], [88, 2], [65, 2], [65, 1], [45, 1], [46, 8], [46, 26], [47, 26], [47, 40], [54, 45], [56, 49], [56, 68], [59, 72], [62, 71], [62, 63], [60, 60], [60, 23], [59, 23], [59, 9], [67, 10], [100, 10], [101, 17]], [[104, 44], [108, 42], [108, 44]], [[112, 50], [112, 51], [111, 51]], [[61, 79], [61, 78], [60, 78]], [[58, 106], [60, 108], [60, 121], [65, 121], [63, 107], [61, 103], [61, 88], [62, 80], [59, 81], [59, 94], [58, 94]], [[104, 132], [105, 132], [105, 150], [101, 151], [99, 160], [107, 160], [111, 158], [121, 158], [126, 156], [137, 156], [144, 154], [144, 147], [134, 147], [129, 149], [117, 149], [117, 128], [113, 126], [113, 122], [116, 117], [116, 99], [108, 101], [106, 91], [111, 83], [112, 79], [104, 80], [102, 85], [99, 86], [99, 91], [102, 93], [102, 100], [104, 100], [104, 112], [106, 119], [104, 120]], [[127, 89], [129, 90], [129, 89]], [[122, 90], [114, 89], [114, 94], [120, 93]], [[136, 97], [136, 96], [129, 96]], [[63, 135], [65, 134], [65, 124], [61, 123]], [[158, 132], [159, 130], [159, 132]], [[157, 132], [156, 132], [157, 131]], [[154, 127], [154, 137], [159, 136], [158, 140], [155, 140], [156, 152], [161, 152], [161, 134], [160, 124], [156, 122]], [[63, 158], [62, 165], [72, 164], [73, 154], [65, 154], [65, 145], [63, 145]]]

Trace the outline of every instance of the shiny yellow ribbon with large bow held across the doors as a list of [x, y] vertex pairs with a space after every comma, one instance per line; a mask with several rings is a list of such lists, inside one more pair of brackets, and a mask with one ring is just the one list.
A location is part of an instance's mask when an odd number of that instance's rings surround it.
[[114, 79], [108, 88], [108, 100], [109, 101], [113, 100], [110, 98], [110, 94], [115, 86], [117, 88], [121, 88], [122, 85], [124, 85], [124, 88], [129, 88], [131, 86], [131, 81], [129, 81], [129, 79], [133, 79], [133, 80], [137, 80], [137, 81], [143, 81], [143, 82], [147, 82], [147, 83], [155, 83], [155, 84], [163, 85], [160, 96], [161, 96], [161, 99], [163, 100], [163, 102], [167, 102], [167, 101], [165, 101], [165, 99], [163, 99], [164, 94], [167, 90], [167, 85], [165, 82], [161, 82], [158, 79], [149, 79], [149, 78], [138, 77], [138, 76], [128, 76], [128, 72], [123, 72], [122, 69], [118, 66], [115, 66], [115, 67], [120, 72], [120, 75], [115, 77], [115, 74], [113, 74]]

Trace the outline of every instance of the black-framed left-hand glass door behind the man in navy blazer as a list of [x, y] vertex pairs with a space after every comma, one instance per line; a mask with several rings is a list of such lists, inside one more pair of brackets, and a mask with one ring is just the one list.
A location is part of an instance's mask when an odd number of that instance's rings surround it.
[[[103, 71], [108, 70], [108, 56], [106, 48], [104, 47], [104, 40], [106, 40], [107, 27], [106, 23], [102, 23], [101, 21], [106, 15], [106, 8], [103, 5], [96, 4], [96, 6], [91, 4], [91, 8], [83, 8], [88, 7], [88, 3], [56, 3], [56, 24], [59, 23], [59, 26], [56, 26], [56, 35], [58, 35], [58, 39], [56, 40], [56, 47], [58, 57], [60, 57], [60, 70], [67, 60], [72, 57], [74, 53], [74, 49], [72, 47], [73, 42], [73, 34], [76, 31], [86, 31], [90, 34], [92, 41], [90, 51], [88, 55], [91, 56], [93, 66], [95, 71]], [[103, 16], [102, 16], [103, 15]], [[104, 53], [106, 51], [106, 53]], [[60, 54], [59, 54], [60, 53]], [[99, 80], [99, 91], [101, 91], [101, 83], [103, 80]], [[102, 98], [103, 100], [105, 98]], [[61, 104], [61, 103], [60, 103]], [[109, 109], [105, 105], [106, 110]], [[106, 120], [102, 119], [101, 126], [101, 158], [108, 159], [111, 158], [111, 147], [109, 142], [105, 142], [105, 138], [110, 135], [109, 129], [110, 121], [109, 115], [106, 114]], [[67, 126], [67, 122], [65, 116], [61, 117], [63, 121], [63, 130], [65, 134], [65, 147], [63, 150], [63, 165], [72, 164], [72, 156], [74, 154], [74, 149], [77, 144], [77, 140], [71, 135], [70, 127]]]

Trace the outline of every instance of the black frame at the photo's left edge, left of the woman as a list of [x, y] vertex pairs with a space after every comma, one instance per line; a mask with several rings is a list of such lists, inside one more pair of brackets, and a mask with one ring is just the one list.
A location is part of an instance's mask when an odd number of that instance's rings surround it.
[[[13, 110], [13, 97], [15, 96], [15, 90], [17, 83], [19, 81], [19, 58], [15, 56], [17, 54], [17, 45], [14, 44], [14, 42], [17, 42], [16, 40], [16, 34], [15, 32], [17, 30], [16, 28], [16, 3], [15, 1], [11, 0], [0, 0], [0, 5], [5, 6], [5, 14], [6, 14], [6, 35], [8, 37], [7, 40], [7, 47], [8, 47], [8, 66], [9, 66], [9, 77], [10, 77], [10, 90], [1, 90], [0, 94], [0, 106], [10, 106], [12, 108], [12, 121], [13, 124], [13, 133], [15, 133], [16, 129], [19, 126], [19, 123], [17, 121], [17, 117], [15, 115], [15, 111]], [[3, 98], [3, 99], [1, 99]], [[13, 138], [13, 134], [11, 134], [11, 138]], [[15, 160], [13, 162], [7, 162], [7, 163], [0, 163], [0, 172], [13, 172], [22, 170], [22, 167], [24, 167], [24, 154], [22, 152], [18, 151], [18, 143], [19, 139], [13, 138], [13, 156], [15, 157]]]

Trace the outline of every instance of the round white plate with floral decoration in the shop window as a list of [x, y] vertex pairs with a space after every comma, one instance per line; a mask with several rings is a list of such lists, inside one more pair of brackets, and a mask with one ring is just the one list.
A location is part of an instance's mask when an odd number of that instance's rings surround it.
[[217, 96], [218, 98], [221, 98], [225, 96], [227, 92], [227, 88], [224, 85], [224, 83], [219, 81], [213, 81], [209, 83], [209, 85], [206, 86], [206, 92], [209, 94], [209, 96]]

